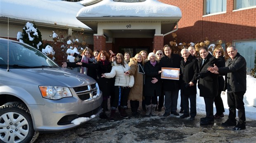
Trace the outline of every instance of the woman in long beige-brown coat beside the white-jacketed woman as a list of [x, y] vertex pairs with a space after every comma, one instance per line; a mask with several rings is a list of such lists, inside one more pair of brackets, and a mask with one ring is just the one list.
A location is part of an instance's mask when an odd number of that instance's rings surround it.
[[134, 76], [134, 85], [130, 89], [128, 100], [130, 100], [130, 107], [133, 116], [139, 116], [137, 112], [139, 103], [142, 101], [143, 81], [144, 81], [144, 65], [142, 55], [137, 53], [134, 58], [130, 58], [130, 69], [128, 73]]

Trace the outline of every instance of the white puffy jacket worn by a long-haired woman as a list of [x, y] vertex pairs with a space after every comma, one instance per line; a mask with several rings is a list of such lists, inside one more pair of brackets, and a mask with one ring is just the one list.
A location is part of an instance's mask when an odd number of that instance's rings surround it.
[[105, 75], [106, 78], [113, 78], [116, 76], [115, 86], [129, 86], [131, 88], [134, 84], [134, 77], [124, 75], [124, 72], [128, 71], [129, 69], [130, 67], [126, 63], [125, 67], [123, 67], [123, 65], [118, 65], [116, 62], [114, 62], [114, 66], [112, 67], [110, 73], [105, 73]]

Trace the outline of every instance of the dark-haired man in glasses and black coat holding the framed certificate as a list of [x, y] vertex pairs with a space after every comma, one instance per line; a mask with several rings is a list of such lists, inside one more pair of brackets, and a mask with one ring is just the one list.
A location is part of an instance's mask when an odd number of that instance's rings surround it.
[[[178, 54], [173, 54], [171, 47], [169, 45], [164, 46], [164, 57], [159, 61], [161, 67], [171, 67], [171, 68], [180, 68], [181, 56]], [[161, 69], [160, 69], [161, 70]], [[165, 113], [164, 117], [167, 117], [171, 114], [179, 115], [177, 113], [177, 102], [180, 90], [180, 81], [172, 79], [163, 79], [163, 88], [164, 88], [164, 106]]]

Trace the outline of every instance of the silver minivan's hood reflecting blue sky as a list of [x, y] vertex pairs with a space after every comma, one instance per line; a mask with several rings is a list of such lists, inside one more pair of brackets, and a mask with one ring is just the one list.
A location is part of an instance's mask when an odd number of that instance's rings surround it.
[[37, 85], [52, 85], [73, 88], [96, 83], [93, 78], [86, 76], [85, 74], [60, 67], [10, 69], [9, 72], [12, 78], [22, 79], [26, 82], [31, 82]]

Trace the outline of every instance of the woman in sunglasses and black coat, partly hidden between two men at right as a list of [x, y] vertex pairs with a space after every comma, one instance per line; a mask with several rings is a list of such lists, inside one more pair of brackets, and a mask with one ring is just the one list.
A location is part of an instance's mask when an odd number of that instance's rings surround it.
[[[217, 67], [225, 67], [225, 58], [223, 57], [225, 55], [225, 52], [222, 48], [215, 48], [213, 51], [213, 56], [217, 59], [216, 66]], [[223, 118], [224, 117], [224, 106], [223, 106], [223, 101], [221, 99], [221, 92], [224, 91], [224, 85], [225, 81], [223, 76], [218, 75], [218, 83], [219, 83], [219, 88], [218, 88], [218, 95], [214, 99], [214, 104], [216, 106], [216, 114], [214, 115], [215, 119]]]

